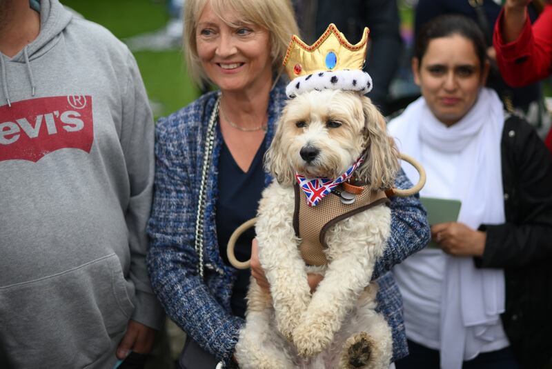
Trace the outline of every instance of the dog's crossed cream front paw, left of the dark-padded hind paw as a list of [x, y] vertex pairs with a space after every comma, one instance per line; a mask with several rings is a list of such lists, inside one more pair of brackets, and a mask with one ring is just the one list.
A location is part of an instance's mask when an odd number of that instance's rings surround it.
[[330, 345], [332, 339], [331, 332], [323, 329], [319, 324], [303, 321], [293, 330], [293, 345], [297, 355], [304, 358], [318, 355]]

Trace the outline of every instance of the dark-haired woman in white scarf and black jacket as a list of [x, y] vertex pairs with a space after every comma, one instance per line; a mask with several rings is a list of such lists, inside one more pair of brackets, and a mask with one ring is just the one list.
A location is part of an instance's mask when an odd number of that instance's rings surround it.
[[422, 97], [389, 130], [426, 168], [421, 195], [462, 206], [457, 221], [432, 225], [439, 248], [394, 268], [411, 352], [397, 369], [538, 368], [552, 358], [550, 154], [483, 87], [486, 43], [473, 21], [428, 23], [412, 68]]

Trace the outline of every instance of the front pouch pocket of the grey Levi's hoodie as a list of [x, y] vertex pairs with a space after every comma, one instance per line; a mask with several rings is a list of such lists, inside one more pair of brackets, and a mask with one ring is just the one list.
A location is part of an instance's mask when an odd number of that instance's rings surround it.
[[0, 288], [0, 344], [16, 368], [82, 368], [114, 352], [133, 310], [119, 258], [108, 255]]

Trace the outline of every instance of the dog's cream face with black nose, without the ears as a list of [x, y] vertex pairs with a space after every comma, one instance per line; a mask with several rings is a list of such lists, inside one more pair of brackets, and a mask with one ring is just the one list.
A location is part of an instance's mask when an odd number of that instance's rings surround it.
[[301, 94], [289, 101], [279, 124], [289, 165], [309, 178], [339, 176], [364, 150], [362, 103], [352, 94]]

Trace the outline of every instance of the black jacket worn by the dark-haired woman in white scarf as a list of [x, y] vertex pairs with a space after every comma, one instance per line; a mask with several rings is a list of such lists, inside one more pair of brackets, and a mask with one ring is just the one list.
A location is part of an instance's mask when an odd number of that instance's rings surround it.
[[533, 127], [515, 116], [502, 132], [506, 223], [486, 230], [480, 268], [504, 268], [502, 324], [522, 368], [552, 362], [552, 157]]

